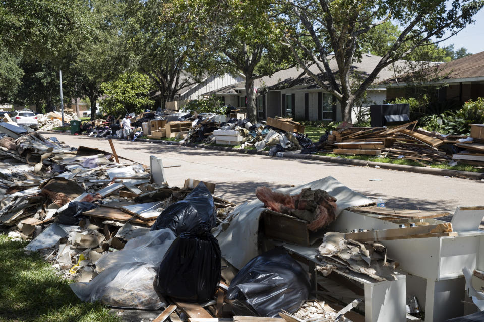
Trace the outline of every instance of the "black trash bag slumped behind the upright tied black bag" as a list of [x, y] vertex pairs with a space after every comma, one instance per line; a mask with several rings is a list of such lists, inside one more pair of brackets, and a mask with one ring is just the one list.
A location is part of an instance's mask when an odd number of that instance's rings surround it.
[[179, 236], [184, 232], [210, 231], [217, 222], [212, 194], [201, 182], [184, 200], [171, 204], [156, 218], [151, 230], [170, 228]]

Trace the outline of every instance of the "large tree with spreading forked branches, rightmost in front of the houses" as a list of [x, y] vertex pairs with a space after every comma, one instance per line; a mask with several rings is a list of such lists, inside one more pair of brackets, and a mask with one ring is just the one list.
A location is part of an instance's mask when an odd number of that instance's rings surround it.
[[[346, 122], [351, 122], [353, 103], [364, 95], [383, 68], [407, 58], [417, 48], [438, 44], [446, 32], [457, 34], [473, 22], [473, 16], [484, 6], [482, 0], [450, 4], [443, 0], [294, 0], [289, 3], [292, 11], [288, 16], [294, 14], [301, 25], [288, 28], [285, 39], [301, 68], [337, 98]], [[361, 85], [352, 89], [351, 66], [361, 57], [360, 39], [390, 20], [401, 26], [397, 38], [382, 52], [382, 58]], [[310, 58], [305, 61], [299, 51]], [[329, 59], [335, 59], [337, 73], [331, 70]], [[318, 67], [322, 77], [309, 70], [308, 61]]]

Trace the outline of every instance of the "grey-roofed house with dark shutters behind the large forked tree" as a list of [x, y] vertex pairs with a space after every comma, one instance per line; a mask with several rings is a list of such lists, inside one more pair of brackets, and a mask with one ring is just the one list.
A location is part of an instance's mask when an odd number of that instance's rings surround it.
[[[329, 58], [330, 66], [336, 73], [338, 70], [336, 61]], [[360, 61], [353, 64], [353, 73], [363, 77], [369, 75], [380, 59], [379, 56], [363, 55]], [[405, 61], [400, 60], [396, 65], [403, 67], [404, 63]], [[312, 65], [310, 70], [321, 76], [315, 65]], [[257, 90], [258, 119], [282, 116], [292, 117], [296, 120], [341, 121], [341, 108], [336, 98], [321, 89], [314, 79], [306, 74], [299, 77], [302, 72], [301, 68], [293, 67], [276, 72], [272, 76], [262, 77], [254, 82], [254, 88]], [[393, 66], [389, 66], [378, 74], [374, 84], [394, 75]], [[219, 96], [225, 105], [246, 106], [244, 81], [204, 93], [204, 95], [211, 94]], [[367, 90], [367, 99], [365, 102], [361, 102], [361, 105], [383, 104], [385, 99], [385, 86], [383, 84], [373, 85]]]

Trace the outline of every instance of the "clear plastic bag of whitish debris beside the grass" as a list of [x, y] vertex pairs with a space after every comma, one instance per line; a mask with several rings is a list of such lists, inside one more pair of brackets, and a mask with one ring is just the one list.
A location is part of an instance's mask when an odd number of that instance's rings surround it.
[[101, 273], [89, 283], [71, 284], [82, 301], [120, 308], [157, 310], [166, 301], [154, 288], [156, 267], [175, 239], [170, 229], [150, 231], [133, 238], [125, 248], [96, 261]]

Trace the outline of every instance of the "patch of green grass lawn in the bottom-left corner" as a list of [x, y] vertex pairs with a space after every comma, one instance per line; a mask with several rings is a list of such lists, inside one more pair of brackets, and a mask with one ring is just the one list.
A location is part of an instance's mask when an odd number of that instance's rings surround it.
[[27, 241], [0, 234], [0, 321], [119, 321], [99, 303], [84, 303]]

